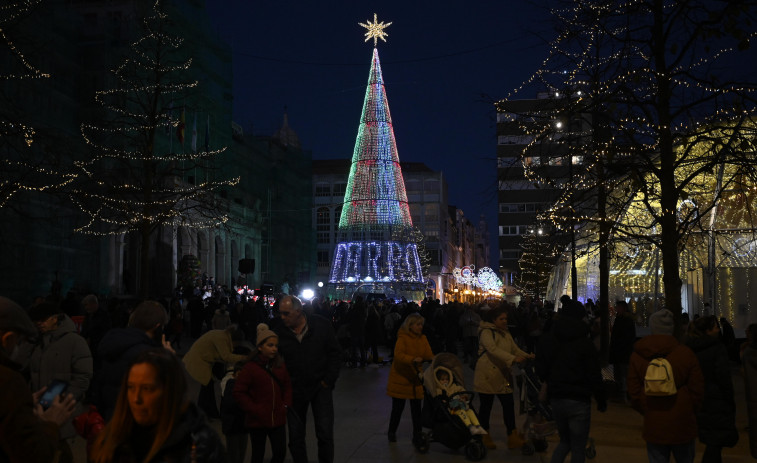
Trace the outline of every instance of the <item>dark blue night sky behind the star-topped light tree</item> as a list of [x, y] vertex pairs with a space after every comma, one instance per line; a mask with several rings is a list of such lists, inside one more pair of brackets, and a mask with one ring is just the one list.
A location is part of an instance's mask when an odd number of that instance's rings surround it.
[[233, 50], [234, 120], [271, 135], [286, 106], [314, 159], [352, 157], [373, 48], [358, 23], [373, 13], [392, 22], [378, 49], [400, 160], [444, 172], [449, 203], [472, 222], [486, 214], [496, 268], [491, 102], [546, 56], [544, 10], [502, 0], [213, 0], [208, 9]]

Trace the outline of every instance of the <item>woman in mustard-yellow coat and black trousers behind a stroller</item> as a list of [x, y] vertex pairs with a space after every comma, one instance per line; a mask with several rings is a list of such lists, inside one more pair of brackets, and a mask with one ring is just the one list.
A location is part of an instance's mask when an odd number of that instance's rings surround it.
[[421, 401], [423, 385], [418, 377], [421, 363], [434, 357], [428, 339], [423, 335], [424, 319], [420, 314], [410, 314], [397, 332], [394, 360], [389, 371], [386, 393], [392, 398], [392, 414], [389, 419], [389, 442], [397, 441], [397, 427], [405, 409], [405, 399], [410, 400], [410, 417], [413, 420], [413, 444], [421, 444]]

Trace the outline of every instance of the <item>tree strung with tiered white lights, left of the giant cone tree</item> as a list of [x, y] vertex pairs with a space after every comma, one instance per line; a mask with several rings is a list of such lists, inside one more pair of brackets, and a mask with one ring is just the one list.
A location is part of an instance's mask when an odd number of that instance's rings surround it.
[[[195, 169], [212, 170], [225, 148], [184, 149], [185, 111], [175, 106], [197, 87], [182, 49], [170, 31], [163, 2], [143, 21], [142, 36], [113, 71], [114, 88], [96, 93], [105, 109], [97, 124], [83, 124], [91, 157], [81, 169], [72, 199], [89, 217], [76, 231], [90, 234], [136, 232], [139, 236], [139, 293], [150, 291], [151, 235], [159, 227], [219, 227], [228, 220], [217, 195], [238, 178], [184, 181]], [[174, 142], [174, 133], [177, 142]]]

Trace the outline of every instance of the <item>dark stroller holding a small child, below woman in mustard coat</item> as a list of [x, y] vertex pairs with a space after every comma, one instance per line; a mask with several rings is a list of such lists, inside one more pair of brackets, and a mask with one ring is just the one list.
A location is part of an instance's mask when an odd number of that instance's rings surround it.
[[444, 367], [452, 373], [454, 381], [463, 387], [463, 364], [460, 359], [450, 353], [437, 354], [420, 375], [425, 391], [423, 400], [423, 427], [430, 431], [423, 433], [421, 442], [416, 446], [419, 452], [426, 453], [431, 442], [440, 442], [452, 450], [465, 448], [465, 456], [471, 461], [480, 461], [486, 457], [486, 447], [481, 441], [480, 435], [472, 435], [463, 423], [463, 420], [452, 413], [449, 409], [449, 400], [458, 394], [469, 395], [473, 398], [472, 391], [463, 391], [453, 394], [453, 397], [437, 394], [437, 379], [435, 371], [438, 367]]

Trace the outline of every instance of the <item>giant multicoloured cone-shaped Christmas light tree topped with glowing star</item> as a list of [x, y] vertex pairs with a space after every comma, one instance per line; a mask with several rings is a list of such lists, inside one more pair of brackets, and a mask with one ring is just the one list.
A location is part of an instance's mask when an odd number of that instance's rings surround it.
[[423, 270], [413, 239], [392, 118], [381, 74], [377, 39], [389, 24], [361, 24], [374, 40], [373, 60], [363, 101], [352, 166], [339, 221], [329, 282], [332, 295], [379, 292], [420, 299]]

